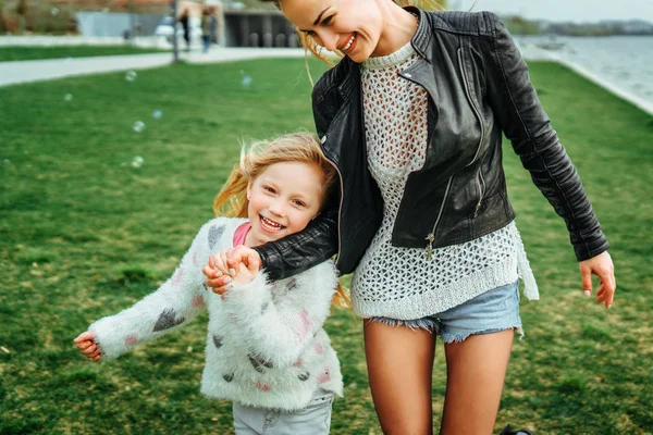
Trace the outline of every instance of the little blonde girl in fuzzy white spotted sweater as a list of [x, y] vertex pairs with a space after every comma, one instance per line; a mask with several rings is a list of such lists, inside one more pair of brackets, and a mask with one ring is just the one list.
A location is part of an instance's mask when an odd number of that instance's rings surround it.
[[[119, 356], [187, 324], [207, 307], [201, 393], [233, 401], [236, 434], [328, 434], [338, 360], [322, 325], [342, 291], [332, 261], [270, 282], [258, 264], [234, 271], [213, 294], [201, 265], [234, 245], [257, 246], [297, 233], [320, 212], [335, 170], [309, 134], [292, 134], [243, 154], [180, 266], [133, 307], [93, 323], [74, 343], [93, 361]], [[338, 296], [338, 295], [335, 295]], [[343, 296], [344, 295], [340, 295]]]

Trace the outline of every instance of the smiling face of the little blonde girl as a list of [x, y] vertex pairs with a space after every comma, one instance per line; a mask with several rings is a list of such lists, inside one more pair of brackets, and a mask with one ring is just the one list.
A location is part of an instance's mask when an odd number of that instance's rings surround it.
[[247, 186], [251, 229], [245, 244], [259, 246], [298, 233], [318, 214], [324, 175], [317, 164], [271, 164]]

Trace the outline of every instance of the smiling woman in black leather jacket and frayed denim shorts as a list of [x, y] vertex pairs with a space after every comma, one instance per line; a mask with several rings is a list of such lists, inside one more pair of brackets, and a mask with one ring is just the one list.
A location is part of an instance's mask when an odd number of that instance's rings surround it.
[[[526, 63], [492, 13], [424, 12], [405, 0], [272, 2], [311, 51], [343, 57], [312, 92], [341, 196], [255, 258], [275, 277], [333, 253], [342, 273], [355, 271], [352, 300], [385, 433], [432, 432], [435, 335], [447, 364], [440, 432], [492, 433], [521, 330], [517, 278], [538, 297], [507, 197], [503, 134], [565, 220], [586, 295], [592, 274], [599, 302], [609, 307], [615, 291], [607, 240]], [[227, 264], [251, 254], [236, 248]], [[220, 287], [224, 273], [208, 284]]]

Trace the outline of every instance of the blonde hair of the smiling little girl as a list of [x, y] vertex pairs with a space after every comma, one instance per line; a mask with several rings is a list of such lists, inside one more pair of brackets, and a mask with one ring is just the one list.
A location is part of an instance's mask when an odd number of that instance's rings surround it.
[[[323, 176], [320, 209], [323, 209], [337, 183], [337, 172], [322, 153], [317, 136], [299, 132], [279, 136], [272, 140], [258, 141], [249, 148], [243, 147], [238, 164], [213, 200], [215, 215], [247, 217], [248, 184], [268, 166], [282, 162], [315, 164], [320, 169]], [[333, 303], [337, 307], [349, 307], [349, 297], [340, 284], [333, 296]]]

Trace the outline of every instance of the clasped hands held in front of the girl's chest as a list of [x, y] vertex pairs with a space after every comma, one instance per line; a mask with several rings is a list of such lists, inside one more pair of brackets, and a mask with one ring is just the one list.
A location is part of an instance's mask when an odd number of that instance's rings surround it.
[[239, 272], [242, 264], [250, 273], [254, 271], [252, 274], [256, 274], [261, 268], [261, 258], [256, 250], [238, 245], [209, 257], [209, 262], [201, 272], [207, 275], [206, 284], [213, 289], [213, 293], [222, 295], [236, 276], [236, 271]]

